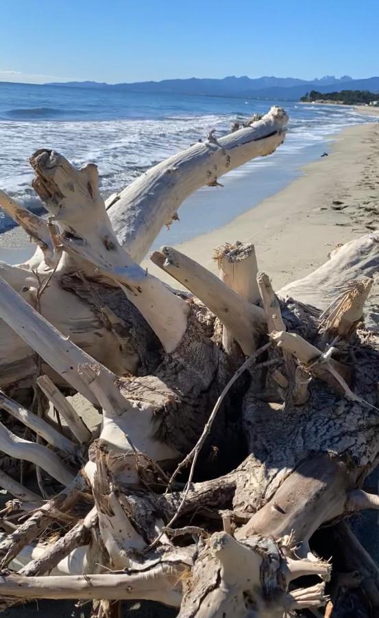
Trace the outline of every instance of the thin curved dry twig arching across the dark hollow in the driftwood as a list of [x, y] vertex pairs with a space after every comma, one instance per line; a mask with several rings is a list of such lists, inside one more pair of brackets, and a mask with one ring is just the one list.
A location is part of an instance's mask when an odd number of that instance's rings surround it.
[[[223, 389], [221, 395], [217, 399], [215, 407], [212, 409], [212, 413], [210, 414], [210, 417], [208, 418], [208, 421], [206, 422], [206, 425], [204, 426], [203, 433], [201, 433], [201, 436], [197, 440], [197, 443], [195, 444], [195, 446], [193, 447], [191, 452], [188, 453], [188, 455], [186, 455], [186, 457], [184, 457], [183, 461], [180, 462], [180, 464], [178, 465], [178, 468], [176, 468], [175, 472], [173, 472], [173, 475], [171, 476], [171, 479], [169, 480], [169, 485], [167, 487], [166, 493], [169, 491], [169, 488], [171, 487], [173, 481], [175, 480], [175, 477], [180, 472], [180, 470], [182, 470], [182, 468], [187, 466], [189, 464], [189, 462], [191, 461], [191, 459], [193, 460], [192, 461], [192, 465], [191, 465], [191, 470], [190, 470], [190, 473], [189, 473], [189, 476], [188, 476], [188, 481], [186, 482], [186, 485], [184, 487], [182, 499], [180, 501], [178, 509], [176, 510], [175, 514], [171, 517], [171, 520], [169, 520], [169, 523], [167, 524], [167, 526], [165, 526], [165, 528], [168, 528], [168, 529], [171, 528], [171, 526], [173, 525], [175, 520], [180, 515], [182, 507], [183, 507], [183, 505], [184, 505], [184, 503], [186, 501], [186, 497], [187, 497], [188, 491], [191, 488], [193, 474], [195, 472], [195, 466], [196, 466], [196, 462], [197, 462], [197, 457], [199, 457], [200, 450], [201, 450], [202, 446], [204, 445], [204, 442], [206, 441], [206, 437], [208, 436], [208, 433], [210, 432], [210, 428], [212, 427], [213, 421], [215, 420], [215, 417], [217, 415], [217, 412], [219, 411], [219, 408], [221, 406], [221, 403], [223, 402], [223, 399], [225, 398], [225, 395], [230, 390], [230, 387], [232, 387], [232, 385], [234, 385], [234, 382], [236, 382], [236, 380], [238, 380], [239, 376], [241, 376], [241, 374], [243, 374], [243, 371], [245, 371], [245, 369], [247, 369], [250, 365], [252, 365], [252, 363], [254, 363], [256, 361], [256, 358], [258, 358], [258, 356], [263, 354], [263, 352], [266, 352], [266, 350], [268, 350], [269, 347], [271, 347], [271, 345], [272, 345], [271, 341], [269, 341], [269, 343], [266, 343], [265, 345], [262, 345], [262, 347], [260, 347], [259, 350], [256, 350], [256, 352], [254, 352], [254, 354], [252, 354], [252, 356], [249, 356], [249, 358], [246, 359], [245, 363], [243, 363], [241, 365], [241, 367], [239, 367], [239, 369], [237, 369], [237, 371], [234, 374], [234, 376], [232, 376], [232, 378], [230, 378], [228, 384], [225, 386], [225, 388]], [[262, 367], [262, 365], [267, 365], [267, 364], [273, 365], [273, 364], [279, 363], [279, 362], [280, 362], [280, 359], [274, 358], [272, 361], [267, 361], [267, 363], [261, 363], [261, 365], [259, 365], [259, 366]], [[160, 540], [160, 538], [162, 537], [162, 534], [163, 534], [163, 531], [158, 535], [158, 537], [153, 542], [151, 542], [151, 544], [147, 547], [147, 549], [151, 549], [152, 547], [155, 547], [156, 544], [158, 543], [158, 541]]]

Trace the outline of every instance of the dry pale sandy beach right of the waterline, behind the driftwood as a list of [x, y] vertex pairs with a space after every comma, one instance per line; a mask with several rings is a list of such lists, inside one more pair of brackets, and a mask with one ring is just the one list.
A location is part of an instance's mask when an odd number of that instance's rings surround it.
[[[258, 268], [278, 289], [326, 262], [338, 244], [376, 229], [379, 124], [350, 126], [332, 139], [328, 157], [304, 165], [302, 175], [284, 189], [220, 229], [173, 245], [175, 249], [216, 273], [216, 247], [253, 242]], [[148, 259], [143, 266], [173, 285], [172, 277]]]

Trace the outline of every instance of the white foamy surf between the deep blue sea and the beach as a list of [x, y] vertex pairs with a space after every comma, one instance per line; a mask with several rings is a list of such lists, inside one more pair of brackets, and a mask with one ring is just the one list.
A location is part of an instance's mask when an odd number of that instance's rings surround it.
[[[237, 100], [238, 102], [238, 100]], [[269, 102], [250, 101], [259, 111]], [[236, 103], [236, 108], [241, 102]], [[269, 159], [260, 159], [230, 174], [251, 173], [257, 165], [272, 167], [285, 164], [286, 158], [298, 157], [302, 165], [302, 151], [326, 139], [337, 130], [367, 122], [350, 108], [328, 106], [297, 106], [283, 104], [289, 109], [290, 124], [283, 146]], [[217, 102], [215, 102], [217, 107]], [[206, 115], [171, 115], [162, 119], [115, 119], [104, 121], [0, 122], [0, 143], [3, 153], [0, 163], [0, 187], [17, 196], [27, 205], [36, 207], [38, 201], [31, 188], [32, 171], [28, 158], [38, 148], [62, 152], [75, 165], [89, 161], [97, 163], [104, 196], [120, 190], [143, 170], [186, 148], [199, 139], [206, 139], [210, 129], [228, 133], [231, 123], [247, 113]], [[273, 172], [275, 173], [275, 172]], [[1, 229], [1, 221], [0, 221]]]

